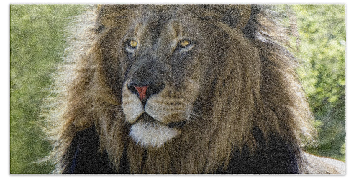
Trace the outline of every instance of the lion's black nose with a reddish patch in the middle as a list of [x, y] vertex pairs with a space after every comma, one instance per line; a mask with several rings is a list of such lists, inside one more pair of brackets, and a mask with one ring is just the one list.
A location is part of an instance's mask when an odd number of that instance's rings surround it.
[[159, 84], [130, 83], [127, 85], [127, 88], [131, 93], [138, 95], [139, 99], [143, 102], [143, 105], [145, 105], [145, 102], [148, 100], [148, 98], [151, 95], [157, 94], [165, 88], [165, 83], [159, 83]]

